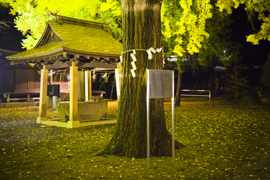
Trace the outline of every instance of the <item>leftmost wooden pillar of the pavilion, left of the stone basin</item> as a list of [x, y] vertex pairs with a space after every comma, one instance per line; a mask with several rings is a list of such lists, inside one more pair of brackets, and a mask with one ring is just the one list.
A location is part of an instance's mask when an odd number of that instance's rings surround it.
[[43, 65], [40, 78], [39, 112], [38, 117], [36, 119], [36, 123], [38, 124], [40, 124], [40, 121], [47, 120], [46, 117], [47, 86], [48, 86], [48, 69], [45, 69], [45, 65]]

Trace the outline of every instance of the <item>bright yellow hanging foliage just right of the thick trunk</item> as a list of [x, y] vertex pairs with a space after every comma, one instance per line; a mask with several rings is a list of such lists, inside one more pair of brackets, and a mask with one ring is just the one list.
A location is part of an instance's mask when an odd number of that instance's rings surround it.
[[205, 31], [205, 21], [212, 17], [210, 0], [180, 0], [180, 9], [173, 1], [163, 1], [161, 21], [164, 23], [164, 38], [177, 35], [173, 52], [179, 56], [188, 52], [198, 53], [202, 42], [209, 37]]

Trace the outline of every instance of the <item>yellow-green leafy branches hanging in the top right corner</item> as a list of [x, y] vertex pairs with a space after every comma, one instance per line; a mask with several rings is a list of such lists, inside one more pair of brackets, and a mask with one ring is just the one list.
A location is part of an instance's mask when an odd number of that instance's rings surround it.
[[[218, 0], [217, 6], [220, 11], [225, 9], [228, 14], [232, 13], [232, 7], [237, 8], [239, 4], [246, 5], [246, 11], [249, 21], [252, 26], [255, 19], [255, 14], [258, 14], [258, 20], [262, 20], [261, 29], [257, 34], [247, 36], [247, 41], [253, 44], [258, 44], [259, 40], [267, 39], [270, 41], [270, 2], [269, 0]], [[253, 29], [255, 30], [254, 26]]]

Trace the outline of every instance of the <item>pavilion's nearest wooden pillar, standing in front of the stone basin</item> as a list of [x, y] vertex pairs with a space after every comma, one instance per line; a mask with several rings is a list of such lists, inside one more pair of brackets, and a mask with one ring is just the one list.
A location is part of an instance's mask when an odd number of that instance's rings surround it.
[[72, 62], [70, 66], [70, 93], [69, 93], [69, 121], [68, 128], [80, 127], [80, 122], [77, 121], [78, 109], [78, 67]]

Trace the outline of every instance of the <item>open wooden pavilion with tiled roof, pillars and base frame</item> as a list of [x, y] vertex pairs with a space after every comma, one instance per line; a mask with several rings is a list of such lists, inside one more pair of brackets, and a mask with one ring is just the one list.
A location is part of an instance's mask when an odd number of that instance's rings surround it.
[[[108, 31], [108, 24], [68, 18], [55, 14], [47, 22], [37, 45], [27, 51], [6, 57], [11, 64], [34, 63], [41, 71], [39, 116], [37, 123], [76, 128], [92, 124], [77, 120], [77, 75], [78, 68], [101, 70], [115, 69], [117, 98], [119, 101], [121, 71], [118, 69], [123, 45]], [[70, 68], [69, 121], [51, 121], [46, 117], [48, 72], [51, 69]], [[91, 101], [91, 72], [85, 72], [86, 101]], [[116, 121], [116, 120], [114, 120]], [[100, 124], [112, 123], [111, 121]], [[97, 123], [96, 123], [97, 124]]]

